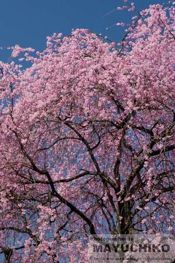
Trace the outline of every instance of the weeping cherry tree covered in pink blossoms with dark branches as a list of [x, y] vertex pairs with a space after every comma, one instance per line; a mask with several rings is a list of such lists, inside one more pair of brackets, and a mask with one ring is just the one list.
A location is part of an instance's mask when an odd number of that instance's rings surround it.
[[[173, 233], [175, 8], [121, 42], [48, 38], [32, 66], [0, 62], [0, 255], [86, 260], [90, 234]], [[20, 59], [22, 60], [22, 59]]]

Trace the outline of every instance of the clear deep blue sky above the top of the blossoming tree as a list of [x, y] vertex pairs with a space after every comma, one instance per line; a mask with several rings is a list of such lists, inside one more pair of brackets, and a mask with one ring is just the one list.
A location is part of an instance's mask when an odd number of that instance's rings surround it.
[[[128, 0], [129, 1], [129, 0]], [[138, 11], [162, 0], [131, 0]], [[109, 27], [117, 22], [131, 22], [135, 12], [116, 10], [123, 0], [0, 0], [0, 47], [32, 47], [42, 51], [46, 37], [53, 33], [69, 35], [71, 29], [88, 28], [118, 42], [124, 27]], [[0, 60], [7, 62], [10, 50], [0, 50]]]

